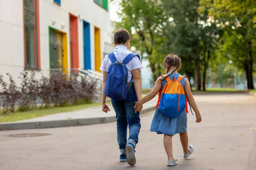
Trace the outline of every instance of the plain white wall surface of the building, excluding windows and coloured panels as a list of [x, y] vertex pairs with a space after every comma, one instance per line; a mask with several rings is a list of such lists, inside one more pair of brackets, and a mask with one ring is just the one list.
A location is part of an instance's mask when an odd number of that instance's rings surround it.
[[[108, 1], [109, 6], [110, 1]], [[95, 70], [94, 26], [100, 28], [101, 54], [104, 58], [105, 43], [112, 43], [113, 28], [109, 11], [93, 0], [62, 0], [61, 6], [53, 0], [39, 0], [39, 28], [41, 75], [50, 69], [49, 26], [67, 34], [68, 66], [70, 67], [69, 13], [81, 16], [90, 23], [91, 68]], [[53, 18], [56, 23], [53, 25]], [[61, 28], [62, 22], [65, 24]], [[84, 68], [84, 28], [78, 18], [79, 67]], [[24, 70], [23, 1], [0, 0], [0, 74], [11, 73], [15, 79]]]

